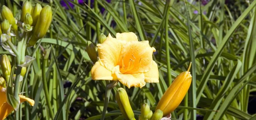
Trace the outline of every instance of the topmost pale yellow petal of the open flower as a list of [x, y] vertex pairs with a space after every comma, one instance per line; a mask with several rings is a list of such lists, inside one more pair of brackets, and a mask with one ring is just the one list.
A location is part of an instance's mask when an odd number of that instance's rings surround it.
[[133, 32], [117, 33], [116, 36], [117, 40], [122, 40], [126, 42], [138, 41], [137, 35], [135, 35]]

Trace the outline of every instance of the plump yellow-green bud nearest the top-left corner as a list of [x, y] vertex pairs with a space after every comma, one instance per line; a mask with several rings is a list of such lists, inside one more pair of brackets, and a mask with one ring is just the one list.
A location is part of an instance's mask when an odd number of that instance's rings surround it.
[[15, 22], [15, 19], [13, 17], [11, 10], [8, 7], [6, 7], [5, 5], [3, 5], [3, 7], [2, 7], [1, 15], [2, 15], [2, 19], [8, 20], [8, 22], [11, 24], [11, 28], [13, 30], [18, 29], [18, 26]]

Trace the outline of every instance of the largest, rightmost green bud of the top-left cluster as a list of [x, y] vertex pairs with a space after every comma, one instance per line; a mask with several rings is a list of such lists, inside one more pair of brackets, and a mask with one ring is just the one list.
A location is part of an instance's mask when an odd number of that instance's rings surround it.
[[33, 46], [36, 42], [43, 38], [52, 22], [52, 8], [46, 5], [40, 12], [35, 28], [33, 28], [33, 35], [29, 40], [29, 46]]

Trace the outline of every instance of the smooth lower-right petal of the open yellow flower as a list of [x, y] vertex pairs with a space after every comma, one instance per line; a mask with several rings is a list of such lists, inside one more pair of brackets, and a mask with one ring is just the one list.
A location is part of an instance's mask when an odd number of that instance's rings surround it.
[[158, 66], [155, 61], [153, 61], [151, 69], [144, 73], [145, 82], [159, 82]]

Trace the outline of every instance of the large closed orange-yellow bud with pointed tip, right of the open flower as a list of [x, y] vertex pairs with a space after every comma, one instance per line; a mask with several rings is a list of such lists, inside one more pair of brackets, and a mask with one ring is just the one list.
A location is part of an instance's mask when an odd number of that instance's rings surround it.
[[[189, 65], [189, 69], [190, 66], [191, 63]], [[189, 69], [180, 73], [180, 75], [174, 79], [173, 83], [169, 86], [167, 91], [165, 91], [164, 95], [158, 102], [156, 110], [162, 110], [164, 116], [167, 116], [173, 112], [180, 105], [181, 101], [189, 90], [189, 86], [192, 81], [192, 76], [189, 72]]]

